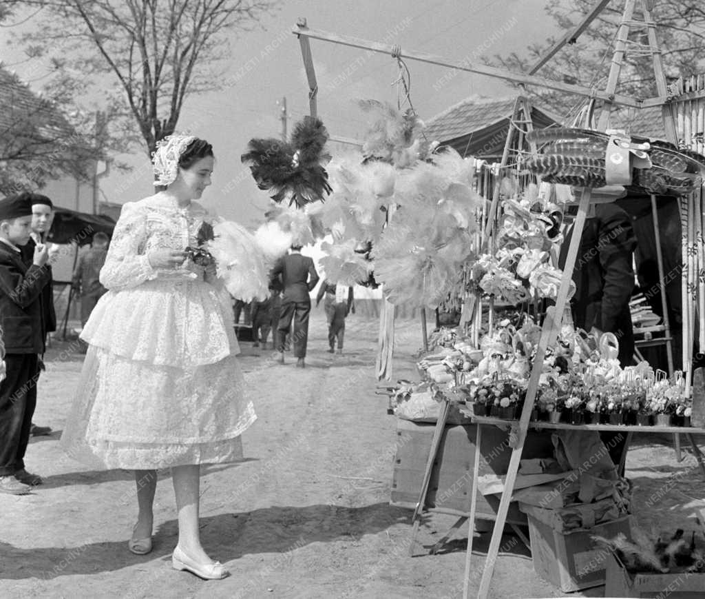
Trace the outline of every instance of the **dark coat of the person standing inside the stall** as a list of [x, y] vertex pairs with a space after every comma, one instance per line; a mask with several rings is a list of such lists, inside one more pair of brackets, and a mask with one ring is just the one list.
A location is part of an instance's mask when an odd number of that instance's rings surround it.
[[[595, 327], [614, 333], [619, 341], [619, 360], [625, 366], [634, 357], [629, 301], [635, 287], [632, 258], [637, 238], [629, 215], [617, 205], [598, 204], [594, 210], [594, 217], [585, 221], [573, 270], [573, 320], [588, 332]], [[570, 235], [566, 237], [561, 266], [570, 244]]]

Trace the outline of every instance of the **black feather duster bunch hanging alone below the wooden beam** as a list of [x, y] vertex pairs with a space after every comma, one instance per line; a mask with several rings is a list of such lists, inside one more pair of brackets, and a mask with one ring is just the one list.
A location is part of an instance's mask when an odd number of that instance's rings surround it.
[[296, 123], [286, 143], [274, 138], [254, 138], [242, 155], [250, 165], [257, 187], [274, 192], [271, 199], [289, 205], [303, 205], [323, 200], [331, 193], [328, 174], [321, 162], [327, 162], [324, 145], [328, 132], [319, 119], [305, 117]]

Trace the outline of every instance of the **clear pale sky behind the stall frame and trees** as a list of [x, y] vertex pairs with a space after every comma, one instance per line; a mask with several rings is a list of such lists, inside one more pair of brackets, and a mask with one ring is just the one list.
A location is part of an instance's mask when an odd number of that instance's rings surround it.
[[[203, 202], [228, 219], [255, 224], [268, 202], [259, 191], [240, 155], [252, 137], [281, 134], [280, 108], [286, 97], [289, 131], [308, 114], [308, 86], [298, 38], [290, 31], [299, 17], [309, 28], [399, 44], [403, 50], [436, 54], [448, 61], [476, 61], [483, 54], [521, 52], [556, 33], [544, 13], [545, 0], [284, 0], [281, 9], [265, 18], [262, 29], [233, 37], [223, 88], [192, 95], [185, 103], [179, 128], [209, 140], [216, 152], [213, 185]], [[25, 26], [30, 26], [27, 23]], [[21, 55], [7, 44], [8, 28], [0, 30], [4, 63]], [[356, 99], [379, 99], [396, 104], [396, 60], [383, 54], [312, 40], [319, 82], [319, 117], [332, 135], [361, 138], [365, 115]], [[407, 60], [411, 71], [411, 99], [421, 119], [471, 95], [506, 97], [515, 92], [501, 80]], [[11, 67], [12, 68], [12, 67]], [[14, 67], [29, 79], [36, 65], [24, 61]], [[27, 73], [27, 75], [23, 75]], [[445, 75], [445, 77], [444, 77]], [[340, 146], [331, 145], [331, 152]], [[152, 193], [147, 155], [130, 161], [133, 173], [102, 180], [102, 199], [137, 200]]]

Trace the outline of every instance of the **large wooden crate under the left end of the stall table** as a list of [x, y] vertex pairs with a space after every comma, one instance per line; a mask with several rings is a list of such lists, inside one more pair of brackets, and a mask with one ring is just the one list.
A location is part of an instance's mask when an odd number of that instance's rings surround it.
[[[397, 420], [397, 447], [391, 487], [391, 504], [414, 509], [419, 500], [424, 470], [431, 451], [431, 440], [435, 424]], [[426, 497], [427, 509], [439, 511], [470, 512], [472, 487], [472, 465], [474, 464], [476, 425], [447, 425], [441, 438], [431, 481]], [[512, 450], [507, 444], [507, 432], [486, 426], [482, 430], [482, 455], [480, 476], [507, 473]], [[529, 431], [522, 458], [540, 458], [553, 455], [550, 431]], [[477, 516], [494, 519], [498, 511], [499, 497], [489, 495], [477, 497]], [[527, 524], [525, 514], [517, 504], [510, 504], [507, 522]]]

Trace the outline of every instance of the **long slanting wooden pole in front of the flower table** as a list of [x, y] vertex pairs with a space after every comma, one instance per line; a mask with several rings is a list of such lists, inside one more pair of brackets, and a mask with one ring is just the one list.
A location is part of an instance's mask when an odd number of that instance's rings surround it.
[[558, 331], [560, 330], [560, 322], [563, 319], [563, 312], [568, 301], [568, 290], [570, 289], [570, 282], [572, 280], [570, 273], [573, 272], [577, 253], [580, 250], [580, 238], [582, 237], [582, 230], [585, 225], [585, 217], [587, 216], [590, 195], [591, 189], [585, 188], [577, 209], [577, 217], [573, 226], [573, 234], [570, 238], [570, 246], [568, 247], [568, 255], [565, 259], [565, 266], [563, 267], [563, 272], [565, 275], [560, 282], [556, 305], [551, 306], [551, 308], [548, 308], [546, 311], [546, 320], [544, 320], [544, 326], [541, 329], [541, 339], [539, 339], [539, 346], [537, 347], [536, 356], [534, 357], [534, 364], [532, 366], [531, 376], [529, 377], [524, 408], [522, 409], [522, 415], [518, 423], [518, 438], [512, 449], [512, 456], [509, 461], [504, 490], [499, 502], [497, 519], [494, 523], [492, 539], [490, 540], [489, 549], [487, 550], [485, 567], [482, 572], [482, 581], [480, 582], [479, 593], [477, 595], [479, 599], [486, 599], [489, 596], [489, 586], [492, 581], [492, 574], [494, 573], [494, 564], [497, 559], [499, 544], [504, 531], [504, 524], [507, 520], [509, 502], [514, 491], [514, 483], [517, 479], [517, 472], [519, 471], [519, 462], [521, 460], [522, 450], [524, 449], [527, 430], [529, 430], [529, 419], [531, 418], [531, 413], [534, 409], [534, 401], [539, 389], [539, 377], [544, 370], [546, 349], [556, 343], [556, 337], [558, 336]]

